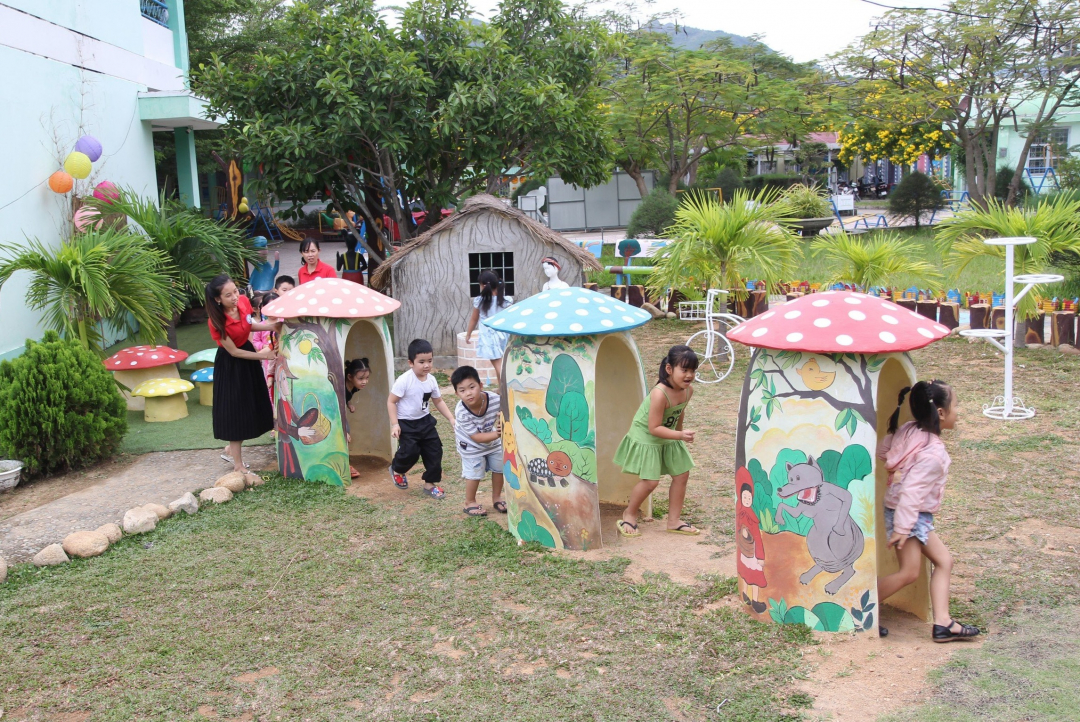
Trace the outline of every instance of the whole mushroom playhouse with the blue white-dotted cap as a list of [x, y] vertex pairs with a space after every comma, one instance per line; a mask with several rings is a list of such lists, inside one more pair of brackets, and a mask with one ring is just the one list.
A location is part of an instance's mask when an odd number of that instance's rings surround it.
[[600, 504], [619, 505], [618, 514], [630, 500], [638, 478], [611, 460], [645, 398], [630, 329], [650, 317], [595, 291], [561, 288], [484, 321], [513, 335], [502, 357], [502, 450], [518, 540], [599, 547]]

